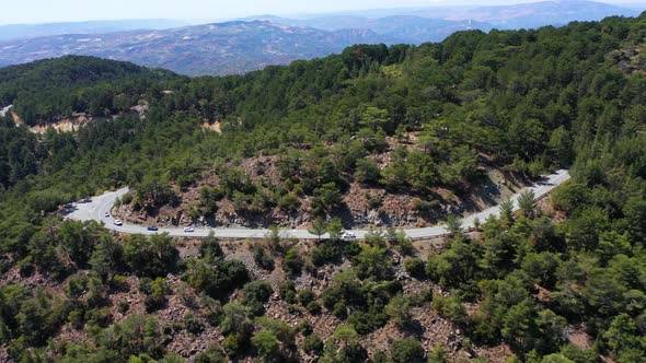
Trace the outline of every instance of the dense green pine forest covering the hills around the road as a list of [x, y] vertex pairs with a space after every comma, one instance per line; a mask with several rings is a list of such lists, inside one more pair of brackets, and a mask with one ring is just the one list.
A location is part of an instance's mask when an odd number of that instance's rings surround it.
[[[645, 39], [643, 14], [357, 45], [224, 78], [88, 57], [0, 69], [0, 106], [24, 122], [0, 121], [0, 358], [643, 362]], [[145, 118], [128, 112], [143, 104]], [[111, 117], [74, 132], [27, 127], [72, 113]], [[416, 148], [389, 150], [383, 169], [370, 162], [411, 132]], [[250, 183], [235, 165], [258, 155], [278, 156], [290, 182]], [[546, 203], [503, 206], [474, 233], [457, 227], [430, 251], [393, 230], [313, 245], [276, 230], [240, 247], [250, 259], [212, 237], [186, 256], [186, 241], [113, 235], [56, 213], [123, 186], [172, 203], [172, 186], [216, 171], [223, 177], [199, 213], [221, 198], [262, 212], [305, 196], [333, 225], [350, 182], [460, 190], [483, 155], [529, 178], [567, 166], [573, 180]], [[336, 272], [323, 283], [320, 271]], [[173, 306], [187, 313], [169, 323]], [[431, 341], [419, 328], [429, 314], [460, 339]], [[384, 329], [397, 338], [378, 341]], [[589, 343], [573, 343], [574, 332]], [[184, 336], [208, 344], [182, 351]]]

